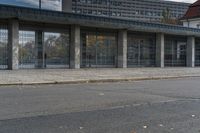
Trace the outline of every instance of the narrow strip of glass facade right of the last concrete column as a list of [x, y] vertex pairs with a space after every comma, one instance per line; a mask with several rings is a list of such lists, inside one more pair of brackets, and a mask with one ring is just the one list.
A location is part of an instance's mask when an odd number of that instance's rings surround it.
[[195, 66], [200, 66], [200, 39], [195, 40]]

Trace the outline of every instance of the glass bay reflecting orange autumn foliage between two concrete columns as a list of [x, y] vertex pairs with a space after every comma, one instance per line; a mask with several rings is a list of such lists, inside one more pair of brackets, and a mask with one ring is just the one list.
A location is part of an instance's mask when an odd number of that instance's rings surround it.
[[115, 33], [81, 33], [81, 67], [116, 67]]

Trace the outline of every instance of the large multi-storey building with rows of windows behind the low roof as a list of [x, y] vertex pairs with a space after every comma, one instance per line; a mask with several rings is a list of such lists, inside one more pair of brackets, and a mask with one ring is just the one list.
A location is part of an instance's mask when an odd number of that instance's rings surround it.
[[62, 4], [63, 11], [144, 21], [160, 21], [167, 8], [172, 18], [179, 19], [188, 6], [164, 0], [63, 0]]

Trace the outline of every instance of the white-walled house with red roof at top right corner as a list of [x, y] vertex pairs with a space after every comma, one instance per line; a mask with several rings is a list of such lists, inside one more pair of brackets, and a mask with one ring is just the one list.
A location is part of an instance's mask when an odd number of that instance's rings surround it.
[[200, 28], [200, 0], [189, 6], [181, 21], [185, 27]]

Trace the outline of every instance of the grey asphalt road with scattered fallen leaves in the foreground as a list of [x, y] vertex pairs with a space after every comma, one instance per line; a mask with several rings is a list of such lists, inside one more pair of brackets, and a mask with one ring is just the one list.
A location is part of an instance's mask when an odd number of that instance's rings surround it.
[[1, 86], [0, 133], [200, 133], [200, 78]]

